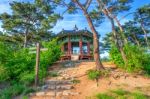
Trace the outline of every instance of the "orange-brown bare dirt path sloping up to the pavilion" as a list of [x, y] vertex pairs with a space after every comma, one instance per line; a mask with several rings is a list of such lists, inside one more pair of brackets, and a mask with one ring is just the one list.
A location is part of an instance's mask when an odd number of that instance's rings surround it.
[[[112, 63], [103, 63], [106, 68], [115, 68]], [[37, 92], [31, 96], [30, 99], [86, 99], [89, 96], [93, 96], [96, 93], [103, 93], [108, 90], [123, 88], [125, 90], [141, 90], [145, 94], [150, 95], [150, 79], [142, 77], [140, 75], [133, 75], [123, 72], [119, 69], [112, 69], [110, 77], [100, 78], [99, 86], [95, 81], [91, 81], [87, 78], [86, 71], [95, 67], [94, 62], [81, 62], [76, 67], [62, 68], [63, 64], [54, 64], [49, 71], [59, 72], [58, 77], [48, 77], [48, 81], [56, 81], [55, 83], [66, 83], [51, 86], [62, 87], [58, 88], [54, 93], [53, 88], [47, 91]], [[57, 82], [59, 81], [59, 82]], [[76, 81], [72, 83], [72, 81]], [[78, 82], [77, 82], [78, 81]], [[56, 96], [56, 97], [55, 97]]]

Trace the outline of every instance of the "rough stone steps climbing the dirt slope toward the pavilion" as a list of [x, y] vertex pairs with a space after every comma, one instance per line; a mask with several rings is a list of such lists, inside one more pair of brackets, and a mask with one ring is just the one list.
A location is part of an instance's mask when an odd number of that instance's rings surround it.
[[39, 87], [39, 91], [29, 95], [29, 99], [71, 99], [70, 97], [80, 94], [73, 91], [74, 78], [66, 74], [66, 69], [57, 72], [59, 72], [58, 77], [48, 77], [44, 85]]

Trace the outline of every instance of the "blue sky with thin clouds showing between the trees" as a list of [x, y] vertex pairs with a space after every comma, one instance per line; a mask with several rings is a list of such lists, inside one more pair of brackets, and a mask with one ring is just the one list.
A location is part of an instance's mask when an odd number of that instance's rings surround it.
[[[33, 0], [0, 0], [0, 14], [2, 14], [4, 12], [11, 13], [9, 3], [12, 1], [19, 1], [19, 2], [22, 2], [22, 1], [29, 2], [30, 1], [31, 2]], [[150, 3], [150, 0], [134, 0], [130, 11], [120, 14], [119, 18], [121, 18], [122, 16], [124, 16], [130, 12], [134, 12], [138, 7], [141, 7], [148, 3]], [[59, 8], [57, 10], [57, 12], [61, 13], [62, 10], [63, 10], [62, 8]], [[121, 21], [121, 23], [123, 24], [129, 20], [132, 20], [132, 15], [123, 19]], [[72, 29], [74, 29], [75, 25], [78, 27], [78, 29], [85, 29], [85, 28], [89, 29], [88, 23], [87, 23], [84, 15], [81, 12], [79, 12], [79, 13], [73, 14], [73, 15], [70, 15], [67, 13], [64, 14], [63, 20], [59, 20], [57, 22], [56, 26], [52, 29], [52, 31], [54, 33], [59, 33], [62, 29], [72, 30]], [[0, 23], [0, 30], [2, 31], [1, 23]], [[99, 27], [96, 28], [96, 30], [101, 35], [101, 37], [104, 37], [106, 33], [109, 33], [111, 31], [110, 22], [106, 19], [105, 22], [103, 22]]]

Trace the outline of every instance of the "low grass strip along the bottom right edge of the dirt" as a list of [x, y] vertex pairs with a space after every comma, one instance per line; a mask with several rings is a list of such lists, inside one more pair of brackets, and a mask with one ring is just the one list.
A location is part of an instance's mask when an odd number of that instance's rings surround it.
[[149, 96], [139, 92], [129, 92], [123, 89], [111, 90], [107, 93], [98, 93], [96, 99], [150, 99]]

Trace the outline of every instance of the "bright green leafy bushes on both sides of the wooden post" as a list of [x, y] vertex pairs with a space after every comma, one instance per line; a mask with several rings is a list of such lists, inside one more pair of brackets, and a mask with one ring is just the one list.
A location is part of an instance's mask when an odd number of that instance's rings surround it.
[[[26, 85], [31, 84], [34, 81], [35, 54], [30, 54], [29, 49], [13, 48], [3, 42], [0, 45], [0, 81], [16, 80]], [[45, 45], [48, 51], [43, 51], [40, 55], [40, 79], [46, 76], [48, 66], [61, 55], [57, 40], [45, 42]]]

